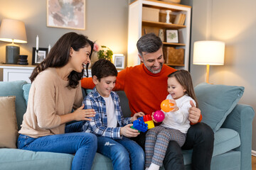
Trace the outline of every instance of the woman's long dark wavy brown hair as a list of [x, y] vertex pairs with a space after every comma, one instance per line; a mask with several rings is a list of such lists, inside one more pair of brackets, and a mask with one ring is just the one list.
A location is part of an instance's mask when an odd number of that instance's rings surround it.
[[[73, 48], [73, 50], [79, 51], [80, 48], [89, 45], [91, 47], [91, 58], [94, 42], [89, 40], [85, 35], [79, 35], [73, 32], [66, 33], [50, 49], [50, 52], [47, 55], [46, 59], [43, 60], [43, 62], [41, 62], [40, 64], [38, 64], [35, 69], [33, 69], [31, 77], [29, 77], [29, 79], [31, 79], [31, 83], [36, 79], [37, 75], [40, 72], [43, 72], [43, 70], [47, 69], [48, 67], [58, 68], [65, 66], [65, 64], [67, 64], [69, 61], [71, 47]], [[89, 63], [86, 65], [87, 76], [88, 66]], [[79, 81], [80, 79], [82, 79], [83, 75], [84, 69], [82, 70], [82, 72], [71, 72], [68, 76], [68, 86], [75, 89], [78, 86]]]

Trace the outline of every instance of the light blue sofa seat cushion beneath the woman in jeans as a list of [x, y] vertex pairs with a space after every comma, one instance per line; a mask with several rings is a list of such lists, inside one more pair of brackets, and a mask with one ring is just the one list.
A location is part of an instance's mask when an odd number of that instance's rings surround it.
[[0, 149], [0, 169], [70, 170], [73, 154]]

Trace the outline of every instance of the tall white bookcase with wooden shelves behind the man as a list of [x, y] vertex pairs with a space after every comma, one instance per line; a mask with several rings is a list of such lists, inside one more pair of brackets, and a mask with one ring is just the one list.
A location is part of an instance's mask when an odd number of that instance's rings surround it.
[[[159, 11], [171, 10], [170, 18], [175, 20], [178, 14], [183, 13], [186, 19], [182, 25], [174, 23], [166, 23], [159, 15], [159, 21], [144, 21], [142, 20], [143, 8], [159, 9]], [[153, 14], [154, 15], [154, 14]], [[160, 22], [161, 21], [161, 22]], [[144, 33], [155, 33], [159, 35], [159, 30], [164, 30], [164, 47], [174, 47], [175, 49], [183, 48], [184, 55], [182, 64], [169, 64], [176, 69], [188, 70], [189, 65], [189, 45], [190, 45], [190, 30], [191, 30], [191, 6], [181, 4], [171, 4], [163, 1], [155, 0], [137, 0], [129, 4], [129, 20], [128, 20], [128, 57], [127, 66], [140, 64], [137, 54], [137, 40]], [[166, 42], [166, 30], [178, 30], [178, 42]], [[166, 56], [164, 56], [166, 59]]]

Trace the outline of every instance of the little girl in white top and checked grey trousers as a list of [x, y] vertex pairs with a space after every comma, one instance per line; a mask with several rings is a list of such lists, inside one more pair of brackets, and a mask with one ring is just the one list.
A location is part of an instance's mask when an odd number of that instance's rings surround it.
[[198, 106], [189, 72], [181, 69], [169, 74], [167, 84], [169, 95], [166, 99], [174, 103], [174, 106], [171, 107], [172, 111], [165, 113], [161, 125], [146, 133], [146, 169], [150, 170], [162, 166], [169, 141], [174, 140], [182, 147], [186, 140], [186, 132], [190, 128], [190, 101]]

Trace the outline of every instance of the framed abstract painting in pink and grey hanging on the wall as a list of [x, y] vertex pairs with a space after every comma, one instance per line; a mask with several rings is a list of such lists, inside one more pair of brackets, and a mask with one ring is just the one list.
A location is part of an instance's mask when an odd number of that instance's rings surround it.
[[85, 0], [46, 1], [48, 27], [85, 30]]

